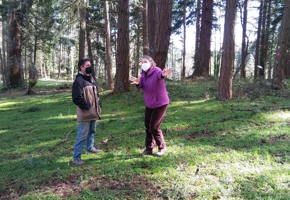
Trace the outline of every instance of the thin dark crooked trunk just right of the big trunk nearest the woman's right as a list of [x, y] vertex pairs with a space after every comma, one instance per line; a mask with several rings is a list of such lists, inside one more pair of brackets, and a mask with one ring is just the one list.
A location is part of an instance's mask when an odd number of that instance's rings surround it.
[[[241, 60], [241, 78], [246, 78], [246, 57], [248, 55], [249, 38], [247, 36], [247, 19], [248, 19], [248, 0], [245, 0], [243, 11], [243, 37], [242, 37], [242, 60]], [[242, 17], [242, 14], [241, 14]], [[242, 21], [242, 18], [241, 18]], [[247, 44], [246, 44], [247, 39]]]

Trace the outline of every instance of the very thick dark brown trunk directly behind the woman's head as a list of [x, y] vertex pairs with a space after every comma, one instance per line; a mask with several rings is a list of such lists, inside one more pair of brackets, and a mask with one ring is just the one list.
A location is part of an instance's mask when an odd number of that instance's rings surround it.
[[[170, 42], [172, 1], [162, 0], [158, 1], [156, 4], [155, 1], [152, 4], [152, 1], [153, 0], [148, 1], [148, 16], [150, 16], [148, 17], [150, 54], [156, 65], [163, 69], [165, 68]], [[153, 8], [150, 7], [150, 3], [153, 5]], [[154, 12], [154, 14], [151, 16], [149, 11], [151, 14]], [[154, 33], [151, 33], [151, 31]], [[154, 40], [152, 38], [153, 35]]]

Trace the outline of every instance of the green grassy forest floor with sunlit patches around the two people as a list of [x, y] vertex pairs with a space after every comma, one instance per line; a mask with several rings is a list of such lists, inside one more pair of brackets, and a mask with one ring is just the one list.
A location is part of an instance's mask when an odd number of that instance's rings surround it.
[[290, 199], [290, 111], [269, 110], [290, 106], [289, 84], [273, 91], [266, 81], [240, 80], [231, 101], [218, 101], [217, 83], [166, 81], [167, 153], [156, 157], [138, 154], [142, 91], [112, 95], [100, 81], [95, 147], [104, 151], [83, 148], [84, 165], [71, 162], [78, 125], [71, 88], [39, 81], [30, 96], [2, 89], [0, 199]]

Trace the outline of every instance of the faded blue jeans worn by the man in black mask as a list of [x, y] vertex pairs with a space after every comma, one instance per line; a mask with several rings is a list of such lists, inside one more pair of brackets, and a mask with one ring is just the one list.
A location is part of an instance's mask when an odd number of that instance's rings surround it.
[[77, 127], [77, 138], [74, 144], [74, 155], [72, 158], [75, 160], [81, 158], [82, 148], [86, 143], [86, 150], [93, 150], [94, 147], [94, 133], [96, 132], [97, 120], [88, 122], [79, 122]]

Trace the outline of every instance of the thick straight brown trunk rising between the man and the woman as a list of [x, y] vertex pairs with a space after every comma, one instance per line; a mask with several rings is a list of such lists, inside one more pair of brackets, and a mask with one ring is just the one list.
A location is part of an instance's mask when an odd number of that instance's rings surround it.
[[115, 92], [129, 88], [129, 0], [118, 1], [118, 33]]

